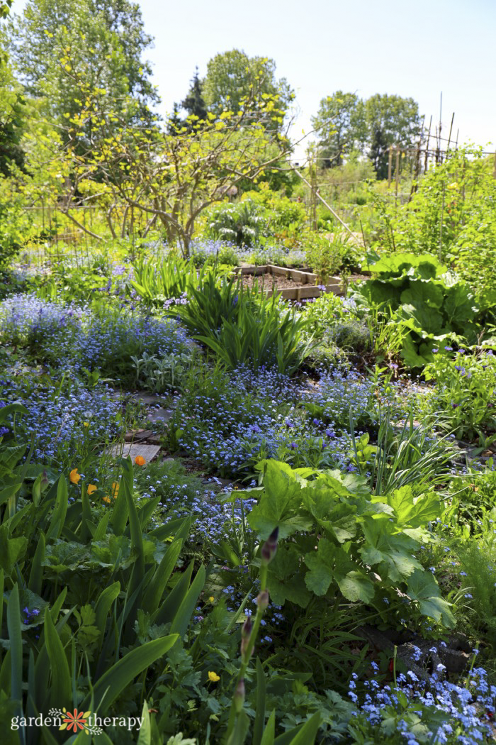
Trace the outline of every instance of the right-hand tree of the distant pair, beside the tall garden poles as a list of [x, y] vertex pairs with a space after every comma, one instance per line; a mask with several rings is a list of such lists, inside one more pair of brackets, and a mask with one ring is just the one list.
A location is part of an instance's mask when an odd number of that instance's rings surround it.
[[391, 145], [408, 148], [420, 133], [419, 104], [399, 95], [376, 95], [365, 101], [368, 130], [368, 155], [377, 177], [387, 177], [388, 150]]

